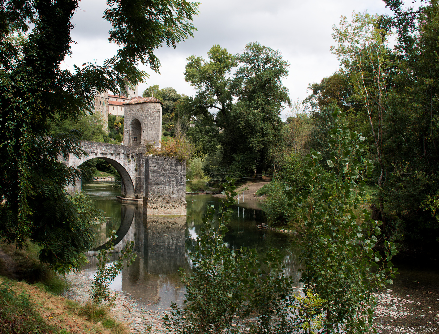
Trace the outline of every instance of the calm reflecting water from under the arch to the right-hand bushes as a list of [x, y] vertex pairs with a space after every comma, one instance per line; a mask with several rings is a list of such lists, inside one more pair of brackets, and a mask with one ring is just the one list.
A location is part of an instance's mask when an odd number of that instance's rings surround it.
[[[220, 199], [212, 195], [187, 195], [187, 217], [144, 217], [141, 205], [117, 201], [115, 197], [120, 190], [111, 185], [91, 183], [83, 185], [83, 191], [96, 201], [97, 208], [104, 211], [107, 218], [107, 223], [97, 231], [95, 249], [105, 243], [111, 230], [117, 230], [116, 242], [120, 241], [116, 249], [127, 241], [135, 243], [137, 259], [116, 277], [110, 287], [129, 294], [139, 307], [156, 310], [166, 309], [172, 302], [182, 303], [185, 291], [178, 269], [191, 269], [189, 252], [202, 226], [206, 205], [218, 207]], [[299, 261], [297, 251], [291, 246], [292, 237], [258, 228], [265, 219], [257, 201], [241, 202], [233, 207], [233, 211], [224, 240], [229, 247], [255, 248], [259, 254], [270, 248], [280, 249], [286, 273], [294, 277], [299, 288]], [[93, 277], [96, 272], [93, 254], [89, 261], [85, 270]]]

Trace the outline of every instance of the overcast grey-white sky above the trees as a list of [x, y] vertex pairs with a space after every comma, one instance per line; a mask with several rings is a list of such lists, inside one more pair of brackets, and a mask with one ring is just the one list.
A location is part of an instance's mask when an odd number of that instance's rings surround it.
[[[65, 59], [65, 67], [87, 61], [102, 64], [112, 57], [118, 47], [108, 43], [110, 25], [102, 20], [105, 0], [83, 0], [73, 18], [72, 55]], [[284, 79], [292, 101], [302, 100], [309, 83], [331, 75], [338, 69], [338, 60], [331, 54], [332, 25], [340, 16], [350, 18], [352, 11], [370, 14], [390, 13], [382, 0], [205, 0], [194, 18], [198, 31], [194, 38], [177, 45], [176, 49], [162, 47], [156, 51], [161, 61], [161, 74], [140, 65], [150, 75], [147, 83], [139, 85], [139, 95], [150, 85], [174, 87], [178, 93], [194, 95], [184, 80], [186, 58], [191, 54], [207, 57], [214, 44], [231, 54], [241, 53], [245, 44], [259, 42], [282, 52], [290, 63], [289, 75]], [[287, 110], [282, 118], [286, 118]]]

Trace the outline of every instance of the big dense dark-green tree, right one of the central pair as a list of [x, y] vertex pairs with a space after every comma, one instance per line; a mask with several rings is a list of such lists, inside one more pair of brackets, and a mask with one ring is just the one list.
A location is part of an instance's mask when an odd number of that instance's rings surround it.
[[241, 169], [262, 175], [282, 136], [281, 111], [285, 104], [291, 105], [288, 89], [282, 85], [288, 62], [278, 50], [259, 43], [248, 43], [238, 60], [233, 81], [238, 102], [224, 126], [221, 144], [226, 162], [232, 157], [237, 162], [239, 157]]

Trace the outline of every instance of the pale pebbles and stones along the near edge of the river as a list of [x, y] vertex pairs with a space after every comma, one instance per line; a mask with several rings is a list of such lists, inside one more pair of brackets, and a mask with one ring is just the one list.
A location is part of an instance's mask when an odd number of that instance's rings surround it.
[[[85, 303], [90, 296], [92, 280], [89, 273], [83, 271], [78, 274], [67, 275], [71, 287], [64, 292], [66, 298]], [[374, 313], [374, 325], [378, 333], [390, 334], [407, 332], [407, 328], [414, 328], [412, 332], [432, 331], [439, 332], [439, 295], [437, 290], [427, 287], [426, 291], [415, 289], [411, 294], [403, 293], [403, 288], [396, 287], [398, 291], [387, 289], [375, 294], [377, 308]], [[432, 290], [432, 291], [430, 291]], [[131, 333], [144, 333], [151, 328], [152, 333], [167, 333], [163, 326], [162, 317], [170, 308], [158, 311], [140, 308], [130, 298], [129, 294], [118, 292], [115, 306], [111, 309], [115, 319], [126, 323]], [[249, 319], [245, 323], [237, 323], [245, 330], [246, 323], [255, 322]], [[429, 330], [430, 329], [430, 330]]]

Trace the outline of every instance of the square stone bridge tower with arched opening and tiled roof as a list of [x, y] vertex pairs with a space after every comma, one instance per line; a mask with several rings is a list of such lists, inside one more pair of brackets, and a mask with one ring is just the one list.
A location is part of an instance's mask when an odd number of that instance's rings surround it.
[[155, 97], [134, 98], [123, 104], [123, 144], [160, 147], [162, 140], [162, 104]]

